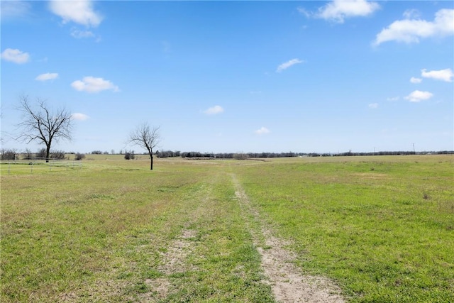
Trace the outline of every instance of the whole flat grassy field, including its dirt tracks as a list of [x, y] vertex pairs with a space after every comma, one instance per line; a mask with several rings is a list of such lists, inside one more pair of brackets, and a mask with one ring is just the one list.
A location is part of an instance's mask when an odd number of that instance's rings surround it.
[[454, 302], [454, 155], [1, 167], [1, 302]]

